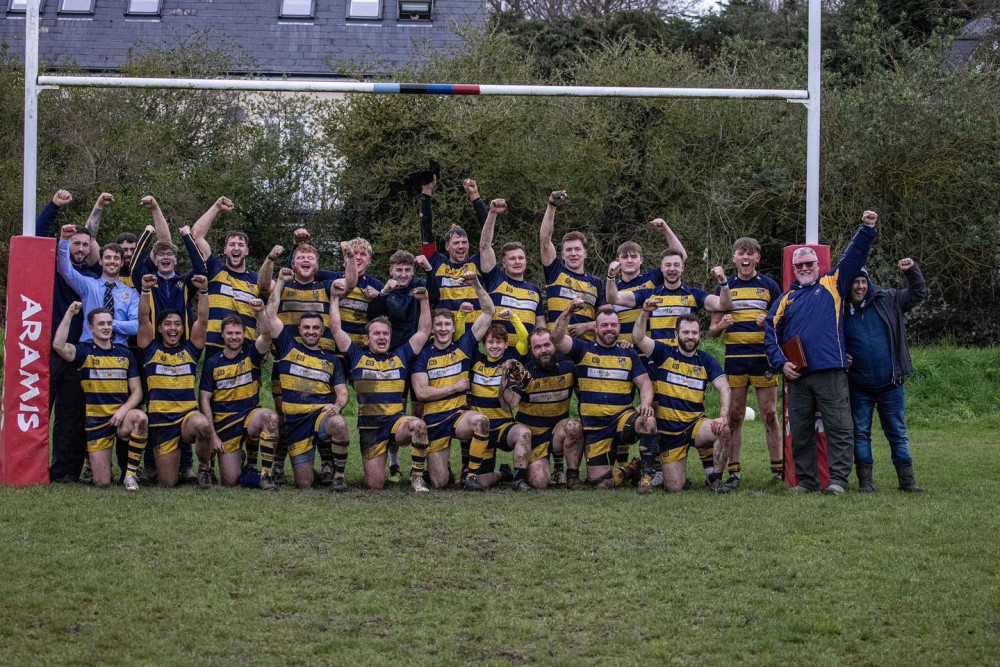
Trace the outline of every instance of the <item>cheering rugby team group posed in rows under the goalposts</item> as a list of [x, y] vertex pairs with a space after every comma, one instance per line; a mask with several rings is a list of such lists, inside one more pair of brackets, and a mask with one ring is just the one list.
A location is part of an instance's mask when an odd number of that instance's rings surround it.
[[[693, 448], [705, 484], [725, 493], [740, 486], [750, 386], [775, 486], [784, 477], [779, 376], [790, 390], [808, 387], [798, 393], [810, 406], [820, 404], [824, 421], [843, 412], [838, 405], [828, 417], [829, 388], [809, 383], [830, 372], [847, 374], [843, 298], [863, 270], [875, 214], [865, 213], [829, 273], [819, 274], [815, 255], [806, 256], [811, 250], [797, 253], [799, 280], [784, 294], [757, 271], [759, 244], [741, 238], [733, 248], [735, 272], [715, 267], [709, 292], [683, 282], [686, 252], [661, 219], [650, 223], [666, 246], [655, 268], [645, 270], [643, 249], [626, 241], [606, 276], [588, 273], [583, 233], [564, 234], [559, 250], [553, 242], [567, 198], [556, 191], [539, 231], [545, 275], [539, 287], [526, 280], [523, 244], [506, 243], [497, 257], [494, 230], [506, 202], [487, 204], [471, 179], [463, 185], [482, 226], [478, 252], [457, 225], [438, 251], [432, 224], [438, 178], [437, 171], [421, 172], [417, 183], [420, 253], [393, 253], [385, 282], [369, 272], [372, 247], [363, 238], [340, 244], [338, 272], [320, 269], [304, 229], [296, 230], [290, 253], [275, 246], [257, 272], [247, 267], [243, 232], [226, 235], [217, 256], [206, 239], [219, 214], [233, 209], [225, 197], [177, 230], [193, 267], [179, 274], [178, 248], [151, 196], [141, 205], [152, 225], [98, 247], [102, 213], [114, 203], [102, 194], [86, 225], [60, 230], [50, 478], [109, 486], [117, 454], [128, 490], [219, 482], [273, 490], [285, 483], [290, 464], [297, 487], [343, 491], [355, 431], [371, 489], [402, 482], [400, 447], [410, 448], [413, 491], [455, 484], [455, 440], [462, 452], [457, 483], [469, 491], [505, 483], [518, 491], [633, 484], [644, 494], [658, 486], [677, 492], [692, 484], [686, 463]], [[56, 193], [39, 214], [37, 234], [50, 235], [59, 207], [71, 201], [65, 190]], [[418, 268], [426, 278], [416, 275]], [[725, 370], [699, 349], [701, 310], [711, 315], [709, 333], [724, 336]], [[785, 356], [793, 339], [805, 343], [808, 368]], [[268, 355], [274, 410], [259, 401]], [[356, 425], [344, 415], [348, 384]], [[709, 385], [720, 395], [714, 418], [705, 410]], [[579, 418], [570, 414], [574, 394]], [[849, 442], [830, 436], [828, 493], [843, 492], [854, 461], [846, 410]], [[799, 481], [793, 490], [818, 491], [812, 412], [798, 417], [808, 429], [796, 429], [794, 411], [792, 418]], [[639, 457], [630, 460], [636, 442]], [[497, 465], [498, 451], [511, 452], [512, 465]], [[896, 453], [894, 447], [894, 462]], [[846, 472], [842, 455], [850, 459]], [[858, 465], [861, 480], [860, 459]]]

